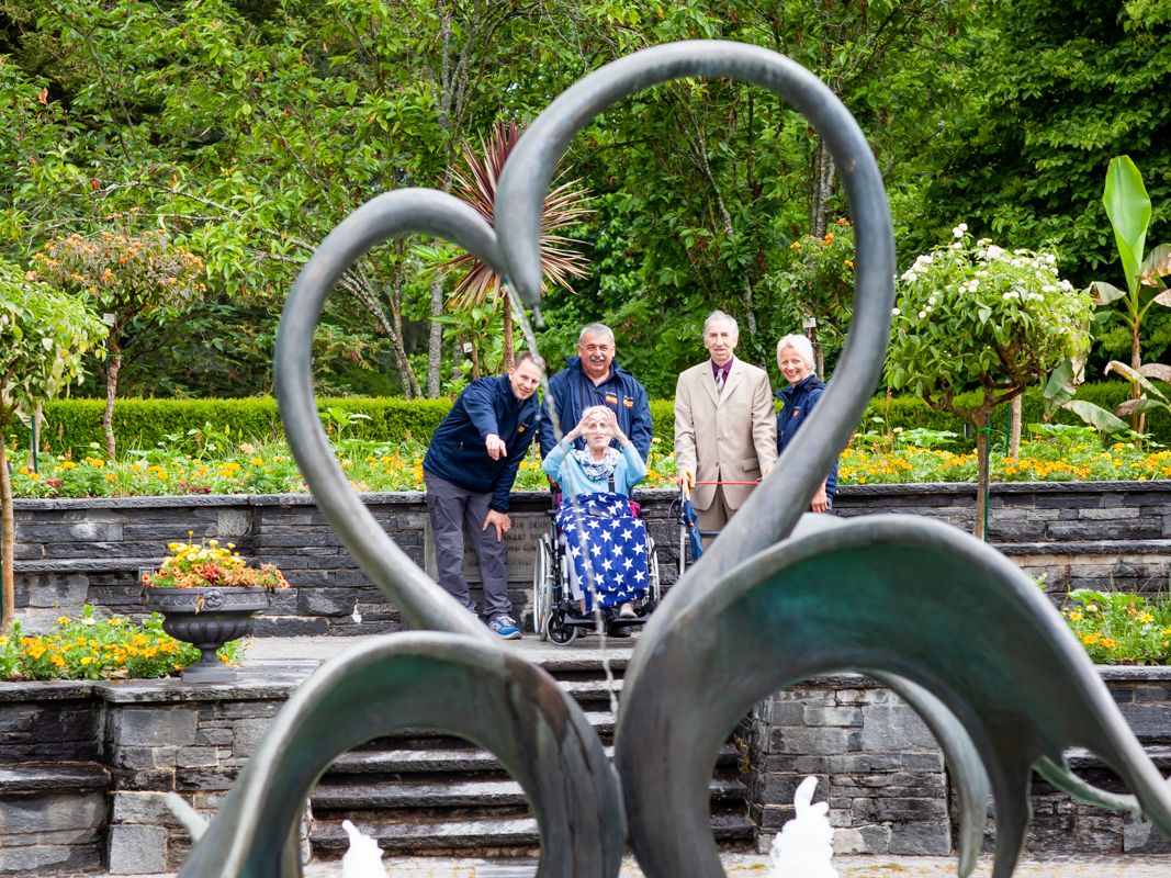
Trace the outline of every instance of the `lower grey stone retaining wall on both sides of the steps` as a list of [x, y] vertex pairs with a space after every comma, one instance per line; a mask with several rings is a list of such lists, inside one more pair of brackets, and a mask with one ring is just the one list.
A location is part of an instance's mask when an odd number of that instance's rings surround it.
[[[1100, 668], [1148, 752], [1171, 768], [1171, 668]], [[273, 716], [308, 673], [263, 681], [0, 684], [0, 874], [173, 871], [190, 842], [163, 804], [177, 791], [213, 812]], [[767, 850], [809, 774], [828, 801], [838, 853], [947, 855], [957, 815], [946, 767], [913, 712], [856, 674], [816, 678], [762, 701], [741, 723], [756, 846]], [[54, 748], [66, 761], [46, 766]], [[1080, 774], [1117, 778], [1091, 754]], [[1171, 841], [1143, 821], [1071, 802], [1038, 781], [1033, 852], [1153, 853]], [[992, 830], [989, 829], [989, 842]]]

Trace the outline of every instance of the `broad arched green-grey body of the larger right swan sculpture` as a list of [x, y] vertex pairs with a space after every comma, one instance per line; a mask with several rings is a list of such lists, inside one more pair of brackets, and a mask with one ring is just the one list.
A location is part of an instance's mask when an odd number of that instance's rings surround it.
[[876, 516], [795, 535], [667, 619], [641, 679], [670, 698], [623, 701], [622, 734], [657, 750], [616, 748], [648, 876], [723, 874], [707, 829], [713, 754], [760, 699], [843, 670], [897, 674], [963, 723], [994, 794], [993, 878], [1013, 873], [1023, 845], [1034, 763], [1061, 764], [1071, 747], [1110, 764], [1171, 835], [1171, 787], [1029, 577], [949, 524]]

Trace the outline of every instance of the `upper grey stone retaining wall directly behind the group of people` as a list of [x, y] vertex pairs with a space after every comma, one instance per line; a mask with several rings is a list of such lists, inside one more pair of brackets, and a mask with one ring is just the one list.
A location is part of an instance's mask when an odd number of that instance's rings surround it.
[[[658, 544], [665, 587], [677, 576], [679, 529], [670, 491], [637, 492]], [[433, 570], [420, 493], [368, 494], [374, 516], [416, 563]], [[513, 496], [508, 535], [511, 596], [528, 611], [534, 543], [549, 527], [546, 493]], [[843, 487], [842, 517], [908, 513], [971, 530], [971, 485]], [[304, 494], [95, 500], [18, 500], [16, 606], [32, 627], [91, 603], [111, 613], [143, 612], [137, 572], [165, 544], [217, 537], [242, 555], [279, 565], [293, 588], [258, 619], [258, 636], [396, 631], [398, 611], [367, 579]], [[1166, 588], [1171, 577], [1171, 482], [993, 486], [989, 540], [1055, 588]], [[468, 553], [467, 572], [478, 579]]]

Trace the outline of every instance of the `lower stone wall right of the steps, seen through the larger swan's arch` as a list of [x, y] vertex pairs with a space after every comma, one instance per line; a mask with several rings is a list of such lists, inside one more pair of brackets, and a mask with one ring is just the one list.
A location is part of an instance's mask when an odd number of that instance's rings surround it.
[[[1159, 769], [1171, 771], [1171, 668], [1101, 667], [1115, 701]], [[793, 791], [819, 777], [815, 801], [829, 802], [838, 853], [946, 856], [958, 814], [934, 738], [898, 695], [865, 677], [835, 674], [778, 692], [740, 727], [749, 767], [748, 811], [767, 851], [793, 817]], [[1125, 793], [1093, 754], [1075, 753], [1078, 775]], [[1149, 822], [1073, 801], [1034, 777], [1034, 853], [1167, 853], [1171, 839]], [[989, 811], [986, 850], [995, 829]]]

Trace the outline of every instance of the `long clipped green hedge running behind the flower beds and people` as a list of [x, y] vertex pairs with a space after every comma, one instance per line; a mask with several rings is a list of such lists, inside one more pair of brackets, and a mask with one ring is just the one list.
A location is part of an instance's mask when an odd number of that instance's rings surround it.
[[[1078, 389], [1077, 398], [1096, 403], [1112, 410], [1129, 396], [1129, 385], [1123, 382], [1087, 384]], [[1171, 392], [1171, 391], [1169, 391]], [[965, 398], [960, 397], [963, 402]], [[451, 410], [450, 399], [424, 399], [408, 402], [398, 398], [320, 399], [317, 406], [323, 412], [323, 421], [333, 432], [338, 427], [344, 435], [374, 441], [402, 441], [415, 439], [427, 441], [434, 428]], [[102, 410], [98, 399], [56, 399], [44, 406], [46, 425], [41, 447], [55, 453], [73, 451], [74, 455], [90, 453], [91, 444], [104, 448], [102, 438]], [[329, 416], [330, 409], [364, 414], [349, 424], [338, 424]], [[674, 416], [670, 399], [651, 400], [651, 418], [658, 447], [670, 451]], [[1025, 424], [1041, 420], [1042, 405], [1040, 389], [1025, 395]], [[882, 423], [874, 421], [881, 418]], [[1080, 424], [1073, 412], [1061, 411], [1054, 418], [1061, 424]], [[992, 418], [993, 441], [1002, 438], [1008, 425], [1008, 406], [1000, 406]], [[963, 434], [963, 420], [946, 412], [931, 409], [922, 399], [908, 397], [875, 397], [863, 417], [861, 430], [885, 432], [892, 427], [927, 427], [951, 430]], [[114, 430], [121, 452], [169, 447], [191, 447], [197, 441], [217, 441], [225, 435], [230, 439], [271, 440], [282, 435], [276, 402], [268, 397], [246, 399], [121, 399], [114, 410]], [[196, 432], [198, 431], [198, 435]], [[1148, 419], [1148, 431], [1155, 440], [1171, 446], [1171, 418], [1157, 413]], [[28, 430], [16, 427], [16, 445], [27, 447]], [[999, 437], [997, 434], [1000, 434]]]

